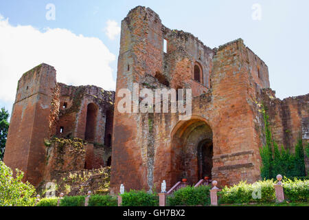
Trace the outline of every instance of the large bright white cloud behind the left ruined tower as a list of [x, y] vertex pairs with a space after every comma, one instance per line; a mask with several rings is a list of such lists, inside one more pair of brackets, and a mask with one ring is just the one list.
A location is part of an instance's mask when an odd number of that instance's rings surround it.
[[30, 25], [16, 27], [0, 15], [0, 99], [14, 101], [23, 73], [41, 63], [55, 67], [57, 82], [115, 89], [111, 61], [115, 55], [97, 38], [65, 29], [40, 32]]

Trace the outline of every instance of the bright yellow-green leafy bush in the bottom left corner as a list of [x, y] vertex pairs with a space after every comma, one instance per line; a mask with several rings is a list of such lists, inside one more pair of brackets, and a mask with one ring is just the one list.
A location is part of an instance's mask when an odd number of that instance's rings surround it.
[[36, 190], [29, 182], [23, 183], [23, 172], [0, 161], [0, 206], [34, 206]]

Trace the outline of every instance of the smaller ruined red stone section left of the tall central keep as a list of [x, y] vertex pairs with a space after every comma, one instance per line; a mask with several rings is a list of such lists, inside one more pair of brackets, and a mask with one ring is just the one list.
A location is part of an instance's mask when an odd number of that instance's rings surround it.
[[[95, 86], [57, 83], [56, 70], [44, 63], [23, 74], [12, 110], [5, 164], [23, 170], [25, 180], [34, 186], [52, 180], [56, 171], [110, 166], [114, 97], [114, 91]], [[54, 137], [67, 142], [59, 145]], [[69, 151], [78, 143], [69, 141], [73, 137], [80, 138], [81, 151]]]

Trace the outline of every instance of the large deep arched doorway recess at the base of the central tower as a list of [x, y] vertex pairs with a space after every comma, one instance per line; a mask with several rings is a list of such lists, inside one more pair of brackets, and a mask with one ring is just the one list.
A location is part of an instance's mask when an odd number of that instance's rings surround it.
[[180, 123], [172, 132], [171, 184], [186, 178], [193, 185], [205, 176], [211, 177], [212, 130], [203, 118]]

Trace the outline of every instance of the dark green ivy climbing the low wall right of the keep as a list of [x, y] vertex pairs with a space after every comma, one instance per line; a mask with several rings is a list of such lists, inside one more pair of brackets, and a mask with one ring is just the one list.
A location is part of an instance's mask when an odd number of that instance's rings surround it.
[[266, 144], [260, 148], [260, 155], [262, 158], [262, 179], [272, 179], [278, 174], [289, 178], [306, 176], [304, 147], [301, 137], [297, 140], [295, 153], [290, 153], [290, 151], [288, 149], [285, 150], [283, 146], [281, 147], [281, 151], [279, 151], [277, 143], [271, 137], [268, 115], [266, 115], [264, 108], [262, 109], [262, 112], [264, 116], [264, 132], [266, 137]]

